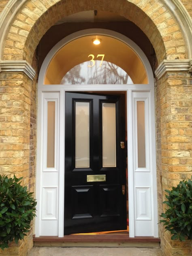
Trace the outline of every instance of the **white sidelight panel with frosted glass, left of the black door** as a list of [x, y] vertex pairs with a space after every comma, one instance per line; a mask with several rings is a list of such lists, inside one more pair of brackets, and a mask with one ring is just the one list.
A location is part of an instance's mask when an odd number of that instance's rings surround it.
[[[60, 92], [41, 92], [41, 129], [38, 131], [39, 180], [36, 235], [59, 235]], [[39, 120], [38, 119], [38, 120]]]

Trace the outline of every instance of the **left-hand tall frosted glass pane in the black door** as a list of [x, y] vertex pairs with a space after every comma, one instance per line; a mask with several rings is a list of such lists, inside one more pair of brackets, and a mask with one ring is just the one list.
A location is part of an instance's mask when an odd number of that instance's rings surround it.
[[90, 167], [90, 103], [75, 103], [75, 168]]

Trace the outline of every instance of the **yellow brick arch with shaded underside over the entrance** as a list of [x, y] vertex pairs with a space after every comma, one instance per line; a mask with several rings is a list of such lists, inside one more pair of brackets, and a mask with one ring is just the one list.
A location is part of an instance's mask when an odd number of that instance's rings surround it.
[[154, 46], [159, 64], [164, 59], [186, 58], [182, 33], [163, 0], [28, 0], [9, 28], [3, 59], [31, 64], [38, 42], [51, 26], [64, 16], [94, 9], [134, 22]]

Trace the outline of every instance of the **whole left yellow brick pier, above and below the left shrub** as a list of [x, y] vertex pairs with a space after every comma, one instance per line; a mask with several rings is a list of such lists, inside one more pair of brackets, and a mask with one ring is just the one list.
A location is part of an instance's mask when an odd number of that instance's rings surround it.
[[[36, 81], [32, 88], [31, 83], [23, 73], [0, 73], [0, 173], [23, 177], [22, 185], [28, 186], [33, 192], [35, 172], [30, 162], [33, 152], [30, 152], [30, 144], [36, 145], [36, 138], [33, 142], [30, 123], [33, 106], [36, 105], [32, 98], [36, 93]], [[36, 108], [34, 112], [36, 115]], [[20, 241], [19, 247], [11, 243], [11, 248], [0, 250], [0, 255], [26, 256], [33, 245], [32, 235], [33, 226], [25, 242]]]

